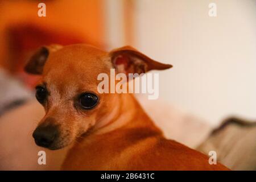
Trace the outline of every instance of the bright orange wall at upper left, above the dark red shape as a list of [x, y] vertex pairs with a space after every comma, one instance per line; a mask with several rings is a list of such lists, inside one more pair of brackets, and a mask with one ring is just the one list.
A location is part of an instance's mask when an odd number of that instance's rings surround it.
[[104, 45], [102, 0], [61, 0], [46, 3], [46, 17], [38, 16], [42, 1], [0, 2], [0, 65], [7, 65], [6, 28], [16, 23], [32, 23], [49, 30], [68, 31], [87, 43]]

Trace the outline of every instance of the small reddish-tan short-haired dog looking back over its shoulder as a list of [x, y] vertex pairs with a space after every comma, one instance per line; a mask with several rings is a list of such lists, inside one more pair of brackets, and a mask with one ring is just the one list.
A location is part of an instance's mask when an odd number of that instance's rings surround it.
[[32, 137], [38, 146], [71, 146], [63, 170], [228, 170], [174, 140], [143, 111], [130, 93], [98, 93], [97, 76], [146, 73], [172, 65], [159, 63], [130, 46], [105, 52], [86, 44], [44, 46], [25, 71], [42, 75], [36, 98], [46, 115]]

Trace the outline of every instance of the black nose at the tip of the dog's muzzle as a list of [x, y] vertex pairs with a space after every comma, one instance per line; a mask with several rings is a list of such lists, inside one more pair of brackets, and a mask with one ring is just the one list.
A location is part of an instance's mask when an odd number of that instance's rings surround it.
[[58, 134], [57, 126], [47, 125], [47, 126], [38, 126], [33, 133], [33, 138], [35, 143], [41, 147], [49, 147], [56, 139]]

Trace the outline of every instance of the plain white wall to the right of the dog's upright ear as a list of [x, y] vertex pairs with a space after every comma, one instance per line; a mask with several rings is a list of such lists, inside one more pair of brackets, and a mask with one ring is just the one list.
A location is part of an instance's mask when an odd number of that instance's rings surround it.
[[135, 2], [134, 46], [174, 65], [160, 73], [160, 99], [212, 124], [256, 119], [256, 1]]

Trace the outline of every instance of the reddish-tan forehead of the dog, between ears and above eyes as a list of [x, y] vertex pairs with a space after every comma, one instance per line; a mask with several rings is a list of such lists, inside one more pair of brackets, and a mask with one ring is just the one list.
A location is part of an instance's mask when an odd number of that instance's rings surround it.
[[86, 45], [66, 46], [50, 53], [44, 66], [43, 81], [57, 88], [96, 88], [100, 73], [109, 73], [108, 52]]

